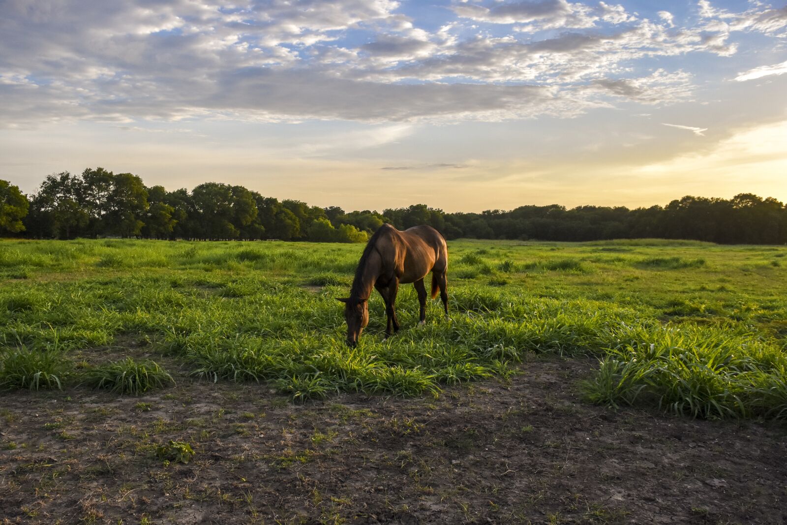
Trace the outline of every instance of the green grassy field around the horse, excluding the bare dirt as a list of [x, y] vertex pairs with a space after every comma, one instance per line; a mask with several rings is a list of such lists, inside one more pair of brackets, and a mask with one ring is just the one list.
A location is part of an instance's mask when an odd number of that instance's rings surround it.
[[[357, 349], [344, 297], [360, 245], [0, 242], [0, 387], [172, 384], [155, 356], [210, 382], [260, 381], [295, 401], [342, 392], [438, 394], [505, 377], [530, 353], [592, 355], [602, 405], [705, 418], [787, 417], [787, 247], [633, 240], [449, 242], [438, 301], [383, 340], [382, 300]], [[145, 347], [153, 360], [95, 349]]]

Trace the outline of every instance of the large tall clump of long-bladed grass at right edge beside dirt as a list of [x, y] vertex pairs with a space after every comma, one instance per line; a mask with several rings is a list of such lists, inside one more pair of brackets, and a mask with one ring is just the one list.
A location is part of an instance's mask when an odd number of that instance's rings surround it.
[[722, 330], [666, 329], [657, 342], [610, 349], [584, 383], [590, 401], [655, 403], [682, 416], [787, 418], [787, 355]]

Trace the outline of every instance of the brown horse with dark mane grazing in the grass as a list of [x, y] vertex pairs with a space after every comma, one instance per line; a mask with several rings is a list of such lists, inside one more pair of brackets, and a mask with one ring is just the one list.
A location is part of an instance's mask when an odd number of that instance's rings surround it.
[[445, 272], [448, 270], [448, 247], [445, 239], [431, 226], [413, 226], [398, 231], [390, 224], [383, 224], [372, 235], [360, 256], [355, 271], [349, 298], [339, 299], [345, 303], [347, 320], [347, 345], [358, 344], [360, 332], [369, 323], [368, 301], [371, 287], [375, 287], [386, 303], [388, 325], [386, 337], [399, 331], [399, 321], [393, 305], [396, 303], [400, 284], [412, 283], [421, 305], [419, 324], [427, 319], [427, 290], [423, 278], [432, 272], [432, 298], [437, 297], [438, 288], [448, 316], [448, 294], [445, 293]]

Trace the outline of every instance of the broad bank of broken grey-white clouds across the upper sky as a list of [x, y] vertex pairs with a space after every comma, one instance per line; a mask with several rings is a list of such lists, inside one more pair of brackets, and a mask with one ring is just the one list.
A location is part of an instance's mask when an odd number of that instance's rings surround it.
[[730, 56], [734, 31], [787, 25], [787, 8], [699, 6], [698, 24], [673, 28], [671, 13], [653, 21], [606, 2], [455, 2], [457, 20], [418, 27], [393, 0], [6, 0], [0, 127], [504, 120], [667, 104], [693, 96], [692, 76], [639, 61]]

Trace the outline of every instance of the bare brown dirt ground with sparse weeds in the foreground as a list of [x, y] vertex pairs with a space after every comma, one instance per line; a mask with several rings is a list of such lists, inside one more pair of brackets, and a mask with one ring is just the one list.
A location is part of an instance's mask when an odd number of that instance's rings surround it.
[[[293, 405], [183, 371], [142, 397], [0, 394], [0, 523], [787, 523], [784, 423], [588, 405], [595, 363], [437, 399]], [[188, 464], [157, 459], [170, 439]]]

